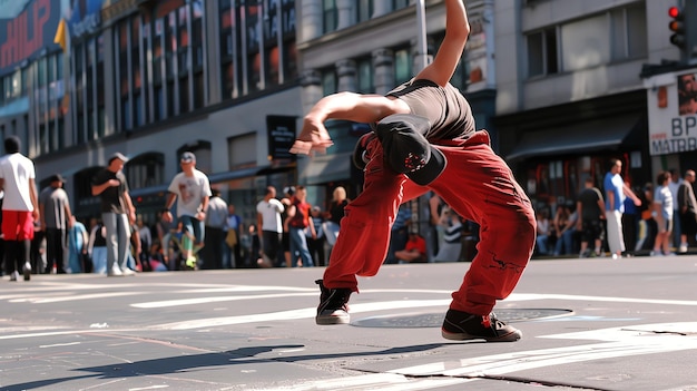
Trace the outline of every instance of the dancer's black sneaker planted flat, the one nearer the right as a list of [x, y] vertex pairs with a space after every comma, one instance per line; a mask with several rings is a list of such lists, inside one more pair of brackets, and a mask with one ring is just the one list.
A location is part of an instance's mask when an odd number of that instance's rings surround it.
[[497, 315], [472, 315], [448, 310], [441, 334], [446, 340], [487, 340], [487, 342], [513, 342], [521, 339], [520, 330], [499, 321]]

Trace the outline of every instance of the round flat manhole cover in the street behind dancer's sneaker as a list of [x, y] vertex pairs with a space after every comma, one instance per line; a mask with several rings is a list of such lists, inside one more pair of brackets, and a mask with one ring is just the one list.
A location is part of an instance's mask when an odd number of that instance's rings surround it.
[[[497, 317], [507, 323], [532, 321], [538, 319], [567, 316], [573, 314], [571, 310], [559, 309], [502, 309], [495, 310]], [[444, 312], [439, 313], [406, 313], [363, 317], [351, 322], [359, 328], [440, 328], [443, 324]]]

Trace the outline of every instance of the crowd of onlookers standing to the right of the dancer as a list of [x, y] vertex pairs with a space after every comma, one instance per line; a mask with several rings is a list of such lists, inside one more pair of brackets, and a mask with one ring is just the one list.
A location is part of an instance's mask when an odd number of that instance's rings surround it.
[[[622, 162], [610, 159], [602, 178], [588, 177], [576, 202], [537, 207], [538, 256], [637, 254], [671, 256], [697, 245], [695, 172], [661, 170], [656, 182], [632, 187]], [[552, 207], [554, 213], [551, 214]]]

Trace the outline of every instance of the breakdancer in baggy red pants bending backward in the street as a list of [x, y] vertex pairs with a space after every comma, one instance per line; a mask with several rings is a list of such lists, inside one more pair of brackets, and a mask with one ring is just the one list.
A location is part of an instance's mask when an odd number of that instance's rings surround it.
[[[342, 233], [324, 271], [317, 324], [345, 324], [356, 276], [377, 273], [390, 228], [402, 202], [434, 190], [455, 213], [481, 226], [479, 252], [452, 294], [441, 334], [450, 340], [516, 341], [521, 332], [492, 313], [514, 289], [534, 246], [530, 201], [510, 168], [477, 131], [467, 99], [449, 82], [470, 32], [462, 0], [445, 0], [446, 31], [433, 61], [387, 97], [338, 92], [322, 98], [304, 117], [292, 153], [332, 145], [327, 119], [374, 125], [354, 159], [365, 164], [364, 188], [346, 206]], [[365, 154], [364, 154], [365, 153]]]

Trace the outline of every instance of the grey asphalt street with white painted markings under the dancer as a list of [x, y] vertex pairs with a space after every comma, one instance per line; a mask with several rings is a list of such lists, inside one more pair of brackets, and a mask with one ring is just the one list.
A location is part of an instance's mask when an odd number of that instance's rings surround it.
[[469, 263], [385, 265], [351, 324], [316, 268], [0, 281], [0, 390], [697, 390], [697, 256], [532, 261], [512, 343], [440, 335]]

